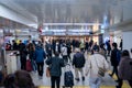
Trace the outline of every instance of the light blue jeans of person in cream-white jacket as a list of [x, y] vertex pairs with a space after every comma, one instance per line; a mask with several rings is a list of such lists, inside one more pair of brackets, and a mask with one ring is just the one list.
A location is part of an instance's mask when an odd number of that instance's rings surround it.
[[100, 88], [101, 80], [102, 80], [101, 77], [90, 78], [89, 79], [89, 86], [90, 86], [90, 88]]

